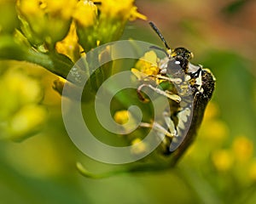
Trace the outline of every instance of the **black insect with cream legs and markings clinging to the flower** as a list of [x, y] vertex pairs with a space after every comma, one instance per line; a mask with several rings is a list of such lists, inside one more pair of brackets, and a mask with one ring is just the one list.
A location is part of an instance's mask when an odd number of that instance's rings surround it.
[[174, 155], [173, 162], [176, 162], [195, 139], [207, 103], [212, 98], [215, 77], [210, 70], [190, 63], [193, 54], [187, 48], [170, 48], [154, 23], [149, 22], [149, 25], [158, 34], [167, 49], [154, 47], [162, 50], [166, 54], [166, 58], [160, 59], [159, 73], [150, 77], [160, 79], [161, 83], [172, 84], [172, 89], [163, 90], [143, 82], [137, 88], [137, 93], [142, 99], [142, 88], [151, 88], [156, 93], [165, 95], [170, 100], [172, 109], [171, 112], [163, 112], [165, 121], [163, 124], [142, 122], [141, 126], [154, 128], [160, 137], [164, 134], [163, 153], [166, 155], [172, 153]]

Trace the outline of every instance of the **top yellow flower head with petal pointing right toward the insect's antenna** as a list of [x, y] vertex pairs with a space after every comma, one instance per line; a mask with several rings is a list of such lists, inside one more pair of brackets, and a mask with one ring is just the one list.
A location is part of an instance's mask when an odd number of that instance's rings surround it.
[[146, 19], [137, 13], [132, 0], [106, 0], [99, 4], [80, 1], [73, 19], [77, 25], [79, 43], [85, 52], [101, 44], [119, 40], [127, 20]]

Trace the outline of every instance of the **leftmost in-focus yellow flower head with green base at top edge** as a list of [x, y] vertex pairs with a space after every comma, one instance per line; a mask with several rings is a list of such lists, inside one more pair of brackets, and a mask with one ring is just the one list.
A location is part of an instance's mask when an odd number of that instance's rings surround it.
[[32, 44], [49, 47], [61, 41], [69, 30], [77, 0], [19, 0], [22, 31]]

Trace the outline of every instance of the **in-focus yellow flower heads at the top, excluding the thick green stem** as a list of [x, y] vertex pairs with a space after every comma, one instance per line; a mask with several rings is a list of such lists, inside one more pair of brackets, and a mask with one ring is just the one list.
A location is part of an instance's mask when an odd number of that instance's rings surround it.
[[[127, 20], [145, 19], [137, 13], [132, 0], [100, 3], [89, 0], [19, 0], [17, 8], [21, 31], [29, 42], [51, 49], [55, 48], [56, 42], [63, 41], [57, 45], [57, 50], [66, 54], [65, 46], [72, 47], [75, 54], [69, 56], [78, 54], [78, 42], [87, 52], [100, 44], [118, 40]], [[67, 48], [67, 53], [70, 49]]]

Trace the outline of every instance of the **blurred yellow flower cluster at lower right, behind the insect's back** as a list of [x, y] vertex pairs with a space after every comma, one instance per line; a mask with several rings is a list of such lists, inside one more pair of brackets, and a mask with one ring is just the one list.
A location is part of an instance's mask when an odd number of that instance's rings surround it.
[[[210, 102], [197, 141], [184, 161], [191, 166], [195, 163], [195, 169], [212, 182], [213, 188], [221, 190], [222, 195], [230, 193], [230, 182], [233, 191], [242, 195], [245, 187], [256, 182], [253, 140], [240, 134], [230, 140], [229, 126], [219, 115], [218, 105]], [[216, 176], [213, 180], [212, 175]]]

